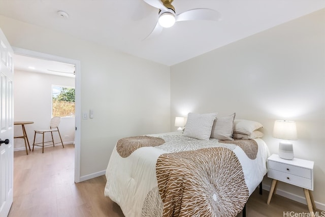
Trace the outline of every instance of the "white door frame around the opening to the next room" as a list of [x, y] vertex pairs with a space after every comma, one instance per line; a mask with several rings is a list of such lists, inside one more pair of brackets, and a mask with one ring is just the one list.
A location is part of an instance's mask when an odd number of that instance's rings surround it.
[[80, 60], [69, 59], [61, 56], [55, 56], [47, 53], [41, 53], [32, 50], [26, 50], [23, 48], [12, 47], [15, 54], [31, 56], [41, 59], [58, 61], [61, 63], [72, 64], [76, 66], [76, 74], [75, 74], [75, 182], [80, 182], [80, 144], [81, 144], [81, 63]]

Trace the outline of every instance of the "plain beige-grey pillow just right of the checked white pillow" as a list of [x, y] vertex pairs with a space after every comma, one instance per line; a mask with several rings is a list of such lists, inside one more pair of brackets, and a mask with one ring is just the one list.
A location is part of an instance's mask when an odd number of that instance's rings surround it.
[[226, 117], [217, 117], [213, 121], [211, 138], [219, 140], [234, 140], [232, 136], [235, 115], [236, 113]]

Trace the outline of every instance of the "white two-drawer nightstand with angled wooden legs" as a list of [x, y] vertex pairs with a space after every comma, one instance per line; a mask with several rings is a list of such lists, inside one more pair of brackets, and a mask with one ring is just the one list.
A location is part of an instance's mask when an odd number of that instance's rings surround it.
[[268, 158], [268, 177], [273, 178], [267, 204], [270, 204], [272, 195], [276, 192], [277, 181], [283, 181], [289, 184], [303, 188], [306, 197], [308, 209], [310, 212], [316, 209], [312, 192], [314, 190], [314, 162], [294, 158], [285, 160], [272, 154]]

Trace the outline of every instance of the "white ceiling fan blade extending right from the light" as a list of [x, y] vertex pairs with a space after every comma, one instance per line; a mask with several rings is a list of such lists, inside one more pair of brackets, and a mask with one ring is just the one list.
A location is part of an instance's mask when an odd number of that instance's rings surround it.
[[209, 8], [197, 8], [176, 15], [176, 22], [187, 20], [220, 20], [220, 13]]

